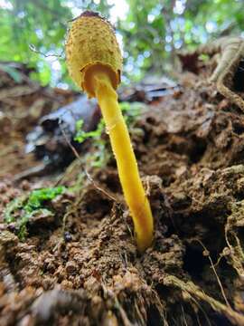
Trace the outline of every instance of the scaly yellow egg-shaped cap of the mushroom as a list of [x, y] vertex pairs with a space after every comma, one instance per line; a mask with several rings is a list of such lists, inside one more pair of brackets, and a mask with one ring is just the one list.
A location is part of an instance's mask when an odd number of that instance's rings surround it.
[[71, 78], [89, 98], [95, 97], [89, 78], [94, 71], [108, 72], [116, 90], [122, 56], [111, 24], [93, 12], [80, 14], [71, 24], [67, 37], [66, 61]]

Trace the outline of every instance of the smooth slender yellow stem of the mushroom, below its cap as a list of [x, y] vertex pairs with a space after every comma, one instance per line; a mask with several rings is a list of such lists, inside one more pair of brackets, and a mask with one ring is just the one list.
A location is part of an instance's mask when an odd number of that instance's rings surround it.
[[96, 73], [93, 87], [117, 160], [118, 176], [135, 225], [136, 245], [143, 252], [152, 244], [154, 222], [145, 196], [127, 125], [117, 103], [117, 93], [105, 73]]

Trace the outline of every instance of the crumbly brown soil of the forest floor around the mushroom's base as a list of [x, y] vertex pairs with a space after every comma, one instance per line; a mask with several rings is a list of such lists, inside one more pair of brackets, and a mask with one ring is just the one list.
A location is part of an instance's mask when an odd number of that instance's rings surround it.
[[92, 141], [63, 172], [20, 175], [40, 164], [24, 154], [27, 133], [75, 95], [0, 80], [0, 325], [244, 325], [238, 106], [204, 73], [184, 72], [136, 116], [131, 138], [155, 218], [154, 245], [140, 255], [115, 159], [92, 167]]

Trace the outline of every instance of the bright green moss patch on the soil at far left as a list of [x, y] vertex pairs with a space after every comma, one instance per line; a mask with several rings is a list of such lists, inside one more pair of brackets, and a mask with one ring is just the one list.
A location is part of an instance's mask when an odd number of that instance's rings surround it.
[[47, 205], [52, 199], [61, 195], [65, 189], [65, 187], [41, 188], [33, 190], [29, 196], [12, 200], [5, 208], [5, 223], [16, 222], [18, 237], [23, 241], [27, 235], [26, 224], [31, 217], [36, 214], [52, 216], [53, 212]]

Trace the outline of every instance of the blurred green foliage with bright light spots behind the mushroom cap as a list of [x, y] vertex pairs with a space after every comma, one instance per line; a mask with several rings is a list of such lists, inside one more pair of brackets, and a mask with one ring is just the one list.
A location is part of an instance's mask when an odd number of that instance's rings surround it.
[[67, 87], [65, 34], [84, 10], [116, 25], [123, 82], [170, 72], [182, 47], [244, 29], [243, 0], [0, 0], [0, 61], [27, 62], [42, 85]]

